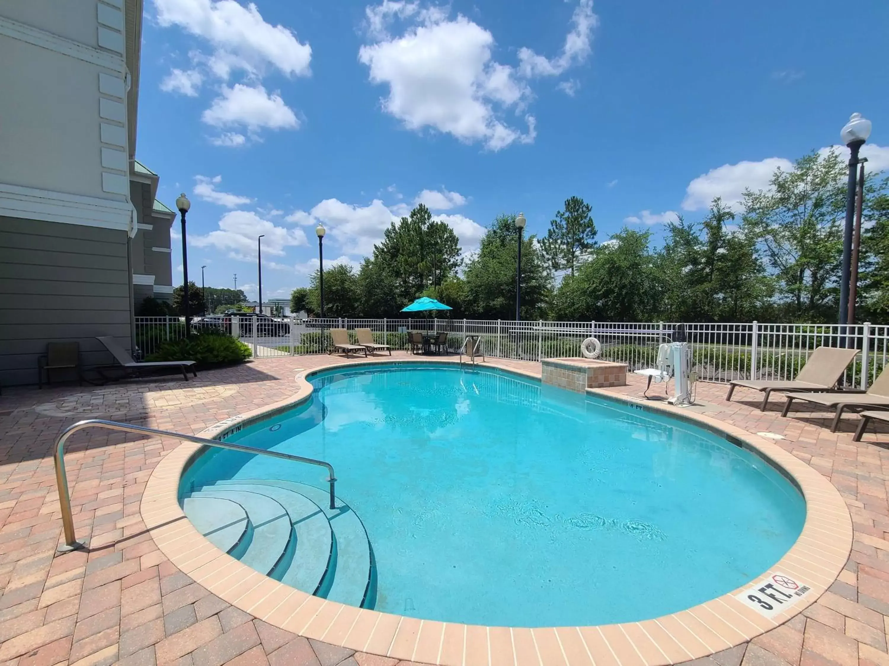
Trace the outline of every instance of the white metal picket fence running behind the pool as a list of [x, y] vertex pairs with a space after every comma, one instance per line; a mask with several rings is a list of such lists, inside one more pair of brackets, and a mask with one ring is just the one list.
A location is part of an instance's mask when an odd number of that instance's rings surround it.
[[[694, 371], [704, 381], [792, 379], [818, 346], [858, 349], [844, 385], [867, 386], [889, 358], [889, 326], [856, 324], [678, 323], [666, 321], [506, 321], [451, 319], [299, 320], [295, 317], [257, 322], [256, 317], [195, 321], [195, 329], [212, 329], [240, 339], [255, 358], [327, 353], [330, 329], [371, 329], [374, 342], [408, 348], [409, 331], [446, 332], [448, 350], [456, 353], [467, 336], [478, 336], [485, 354], [495, 358], [540, 361], [579, 356], [581, 342], [597, 337], [605, 361], [627, 363], [630, 370], [651, 368], [662, 342], [685, 339], [692, 347]], [[178, 317], [137, 317], [140, 353], [157, 353], [168, 341], [185, 337]]]

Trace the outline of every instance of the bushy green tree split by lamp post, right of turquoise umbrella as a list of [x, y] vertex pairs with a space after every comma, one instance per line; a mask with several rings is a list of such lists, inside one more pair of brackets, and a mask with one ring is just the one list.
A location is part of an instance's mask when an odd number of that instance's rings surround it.
[[[464, 309], [468, 316], [514, 319], [518, 238], [515, 215], [500, 215], [482, 238], [477, 256], [469, 261], [464, 279]], [[522, 241], [522, 318], [539, 319], [551, 290], [546, 259], [531, 235]]]

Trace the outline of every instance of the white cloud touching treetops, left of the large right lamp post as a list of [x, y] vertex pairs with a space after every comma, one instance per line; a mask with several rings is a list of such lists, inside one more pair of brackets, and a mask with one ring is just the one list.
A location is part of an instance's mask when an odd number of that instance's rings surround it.
[[783, 157], [767, 157], [759, 162], [723, 164], [694, 178], [685, 188], [684, 210], [707, 210], [710, 202], [722, 197], [728, 208], [737, 211], [744, 190], [767, 189], [775, 169], [788, 170], [793, 163]]

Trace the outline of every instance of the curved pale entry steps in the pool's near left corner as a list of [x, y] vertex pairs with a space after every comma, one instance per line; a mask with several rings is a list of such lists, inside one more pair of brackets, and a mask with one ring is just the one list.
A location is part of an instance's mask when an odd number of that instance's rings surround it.
[[[241, 507], [246, 520], [224, 501]], [[307, 484], [241, 479], [205, 482], [182, 504], [214, 545], [233, 557], [240, 550], [238, 559], [260, 573], [324, 599], [372, 608], [376, 572], [364, 524], [339, 498], [333, 510], [329, 501], [326, 489]], [[220, 511], [223, 506], [228, 511]], [[232, 522], [246, 523], [240, 539]]]

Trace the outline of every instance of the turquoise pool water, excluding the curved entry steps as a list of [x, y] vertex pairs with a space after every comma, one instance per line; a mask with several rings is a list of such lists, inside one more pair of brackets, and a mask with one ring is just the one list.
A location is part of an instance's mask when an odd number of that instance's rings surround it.
[[[329, 371], [312, 400], [230, 436], [321, 458], [364, 522], [375, 607], [445, 622], [629, 622], [748, 582], [789, 550], [805, 501], [781, 473], [667, 416], [493, 369]], [[317, 468], [230, 451], [192, 480]]]

